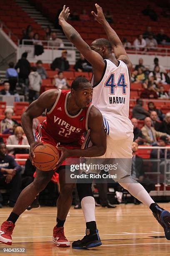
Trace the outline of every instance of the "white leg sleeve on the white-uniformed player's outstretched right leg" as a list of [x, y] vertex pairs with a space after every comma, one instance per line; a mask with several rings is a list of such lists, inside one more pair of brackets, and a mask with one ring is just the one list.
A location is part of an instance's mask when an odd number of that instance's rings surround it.
[[[131, 179], [131, 177], [128, 177]], [[144, 205], [150, 207], [152, 203], [154, 203], [153, 199], [150, 197], [148, 192], [144, 189], [144, 187], [138, 183], [130, 180], [131, 183], [119, 183], [124, 189], [127, 189], [131, 195], [137, 198], [140, 202], [143, 202]]]

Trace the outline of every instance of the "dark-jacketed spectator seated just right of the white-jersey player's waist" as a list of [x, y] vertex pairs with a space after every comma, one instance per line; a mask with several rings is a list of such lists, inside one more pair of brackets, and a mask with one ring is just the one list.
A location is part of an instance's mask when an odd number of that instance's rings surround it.
[[145, 108], [143, 108], [142, 106], [143, 106], [143, 100], [137, 99], [136, 105], [132, 110], [133, 118], [144, 120], [147, 116], [150, 116], [150, 113], [147, 110], [145, 110]]

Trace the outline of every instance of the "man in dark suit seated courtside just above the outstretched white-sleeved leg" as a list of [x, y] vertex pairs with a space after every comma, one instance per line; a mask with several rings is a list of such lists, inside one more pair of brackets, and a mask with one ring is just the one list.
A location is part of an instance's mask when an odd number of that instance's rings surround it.
[[[149, 179], [145, 179], [145, 172], [144, 172], [144, 165], [143, 165], [143, 158], [138, 156], [136, 152], [138, 151], [138, 143], [133, 141], [132, 143], [132, 151], [133, 151], [133, 158], [132, 158], [132, 177], [133, 179], [137, 180], [146, 191], [149, 193], [151, 190], [155, 189], [155, 185], [151, 184]], [[134, 203], [139, 204], [136, 198], [134, 198]]]

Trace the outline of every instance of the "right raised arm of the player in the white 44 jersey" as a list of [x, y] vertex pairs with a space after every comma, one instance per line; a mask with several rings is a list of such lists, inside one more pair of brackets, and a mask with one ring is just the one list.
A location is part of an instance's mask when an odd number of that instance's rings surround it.
[[111, 26], [105, 19], [102, 8], [97, 4], [95, 4], [95, 7], [97, 9], [97, 14], [92, 11], [92, 15], [95, 17], [97, 22], [100, 23], [103, 26], [103, 28], [105, 29], [108, 40], [110, 41], [110, 44], [112, 44], [115, 58], [117, 60], [122, 60], [123, 62], [125, 62], [125, 64], [128, 66], [129, 72], [131, 72], [132, 63], [131, 63], [130, 59], [128, 58], [128, 55], [125, 51], [125, 48], [122, 45], [122, 42], [120, 41], [120, 38], [117, 36], [117, 33], [111, 28]]

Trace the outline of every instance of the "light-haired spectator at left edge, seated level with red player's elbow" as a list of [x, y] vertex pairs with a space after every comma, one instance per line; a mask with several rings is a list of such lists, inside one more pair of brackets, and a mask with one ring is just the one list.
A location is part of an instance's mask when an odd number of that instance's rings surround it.
[[[19, 125], [19, 123], [13, 119], [13, 109], [7, 108], [5, 110], [5, 118], [0, 122], [0, 133], [10, 134], [13, 132], [13, 128], [15, 125]], [[12, 130], [12, 131], [11, 131]]]

